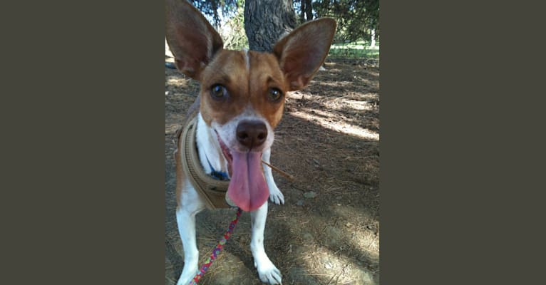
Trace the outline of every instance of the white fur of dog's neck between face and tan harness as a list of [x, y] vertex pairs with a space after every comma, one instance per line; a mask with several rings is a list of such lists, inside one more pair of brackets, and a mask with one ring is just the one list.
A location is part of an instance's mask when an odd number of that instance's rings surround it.
[[197, 152], [199, 153], [199, 160], [205, 173], [210, 175], [212, 171], [216, 171], [227, 174], [227, 160], [222, 154], [220, 142], [218, 142], [215, 131], [207, 126], [205, 120], [203, 120], [201, 113], [197, 113], [197, 129], [195, 133]]

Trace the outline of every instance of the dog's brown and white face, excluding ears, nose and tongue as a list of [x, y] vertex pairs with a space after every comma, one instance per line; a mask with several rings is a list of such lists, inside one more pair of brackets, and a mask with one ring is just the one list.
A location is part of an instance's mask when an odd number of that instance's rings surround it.
[[[228, 149], [262, 152], [273, 143], [288, 90], [272, 54], [222, 50], [202, 71], [200, 112]], [[237, 138], [242, 122], [262, 125], [263, 142], [244, 145]]]

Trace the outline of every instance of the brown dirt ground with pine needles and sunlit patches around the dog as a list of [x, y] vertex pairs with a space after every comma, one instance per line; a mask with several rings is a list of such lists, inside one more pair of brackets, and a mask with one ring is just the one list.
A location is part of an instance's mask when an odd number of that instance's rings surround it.
[[[328, 58], [302, 91], [289, 93], [275, 130], [272, 165], [284, 205], [269, 202], [264, 246], [283, 284], [379, 284], [379, 64]], [[165, 68], [165, 284], [183, 266], [175, 219], [175, 130], [199, 86]], [[235, 210], [197, 214], [200, 264]], [[200, 284], [262, 284], [250, 253], [243, 213], [220, 257]]]

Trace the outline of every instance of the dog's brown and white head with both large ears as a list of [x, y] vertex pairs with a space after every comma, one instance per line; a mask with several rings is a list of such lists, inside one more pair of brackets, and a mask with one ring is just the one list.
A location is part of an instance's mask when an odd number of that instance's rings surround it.
[[281, 38], [272, 53], [229, 51], [187, 1], [167, 0], [165, 8], [175, 65], [201, 83], [203, 120], [215, 131], [234, 172], [243, 164], [249, 170], [242, 175], [259, 176], [250, 169], [259, 168], [261, 153], [273, 143], [286, 93], [311, 81], [329, 51], [336, 22], [325, 18], [299, 26]]

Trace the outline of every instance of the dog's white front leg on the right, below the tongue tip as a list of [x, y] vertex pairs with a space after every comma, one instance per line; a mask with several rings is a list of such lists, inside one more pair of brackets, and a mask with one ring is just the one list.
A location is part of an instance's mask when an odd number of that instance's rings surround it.
[[258, 270], [259, 279], [269, 284], [282, 284], [281, 271], [269, 260], [264, 249], [264, 229], [267, 219], [267, 201], [254, 212], [250, 212], [252, 223], [252, 240], [250, 251], [254, 257], [254, 266]]

